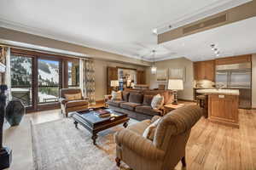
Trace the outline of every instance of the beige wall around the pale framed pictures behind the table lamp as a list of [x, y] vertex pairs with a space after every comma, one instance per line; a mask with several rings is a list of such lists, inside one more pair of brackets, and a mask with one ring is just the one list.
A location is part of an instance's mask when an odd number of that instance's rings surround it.
[[[181, 68], [185, 67], [186, 70], [186, 81], [184, 82], [184, 90], [179, 91], [177, 94], [178, 99], [193, 99], [193, 82], [194, 82], [194, 70], [193, 62], [189, 59], [179, 58], [179, 59], [168, 59], [164, 61], [156, 62], [155, 65], [157, 69], [168, 69], [168, 68]], [[156, 76], [151, 74], [150, 68], [147, 68], [147, 83], [150, 88], [158, 88], [158, 83], [156, 82]]]

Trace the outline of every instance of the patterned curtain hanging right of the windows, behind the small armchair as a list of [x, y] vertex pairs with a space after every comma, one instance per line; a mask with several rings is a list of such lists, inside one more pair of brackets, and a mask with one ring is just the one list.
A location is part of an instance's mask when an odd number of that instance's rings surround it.
[[95, 67], [92, 59], [80, 59], [80, 88], [88, 97], [90, 105], [96, 105]]

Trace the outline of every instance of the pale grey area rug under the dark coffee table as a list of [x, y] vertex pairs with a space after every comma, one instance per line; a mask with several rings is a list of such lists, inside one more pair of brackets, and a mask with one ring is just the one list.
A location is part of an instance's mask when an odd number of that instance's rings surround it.
[[70, 118], [32, 125], [32, 149], [35, 170], [128, 170], [115, 165], [113, 134], [117, 126], [98, 133], [96, 144], [84, 128], [74, 127]]

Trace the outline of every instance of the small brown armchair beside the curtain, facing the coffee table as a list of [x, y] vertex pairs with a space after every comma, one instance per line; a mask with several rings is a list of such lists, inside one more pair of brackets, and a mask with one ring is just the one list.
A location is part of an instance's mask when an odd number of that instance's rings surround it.
[[[81, 99], [66, 99], [65, 94], [81, 94]], [[88, 108], [88, 98], [82, 96], [80, 88], [62, 88], [60, 91], [61, 113], [68, 116], [69, 112], [82, 111]]]

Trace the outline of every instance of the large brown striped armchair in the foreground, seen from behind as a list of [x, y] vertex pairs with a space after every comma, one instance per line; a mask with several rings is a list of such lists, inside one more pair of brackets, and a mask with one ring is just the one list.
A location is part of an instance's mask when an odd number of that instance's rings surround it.
[[170, 170], [178, 161], [185, 162], [185, 147], [191, 127], [201, 118], [197, 105], [187, 105], [171, 111], [160, 119], [154, 139], [143, 138], [144, 130], [160, 116], [137, 122], [116, 133], [116, 162], [124, 161], [136, 170]]

